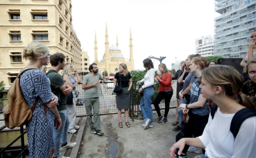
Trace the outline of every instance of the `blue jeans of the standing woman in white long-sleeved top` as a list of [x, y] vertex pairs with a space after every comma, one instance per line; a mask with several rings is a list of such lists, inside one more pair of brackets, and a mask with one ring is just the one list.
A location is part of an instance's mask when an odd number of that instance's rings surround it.
[[151, 99], [154, 95], [154, 88], [153, 87], [147, 87], [144, 89], [144, 95], [141, 99], [141, 103], [139, 105], [141, 106], [141, 112], [144, 117], [144, 120], [150, 119], [151, 123], [153, 124], [153, 112], [151, 107]]

